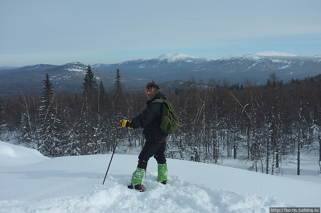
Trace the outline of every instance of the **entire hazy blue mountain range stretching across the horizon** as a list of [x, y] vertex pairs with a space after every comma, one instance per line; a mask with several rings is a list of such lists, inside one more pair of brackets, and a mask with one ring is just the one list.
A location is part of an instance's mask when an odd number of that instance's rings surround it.
[[[20, 93], [18, 87], [26, 92], [41, 91], [46, 73], [52, 79], [55, 89], [79, 92], [87, 67], [88, 65], [73, 62], [61, 66], [37, 64], [17, 69], [0, 69], [0, 95]], [[98, 82], [103, 81], [109, 90], [113, 88], [117, 69], [120, 70], [126, 89], [143, 88], [146, 82], [152, 80], [162, 83], [189, 80], [192, 76], [204, 82], [209, 79], [225, 79], [230, 84], [244, 84], [246, 80], [252, 84], [265, 84], [272, 72], [283, 82], [320, 74], [321, 55], [297, 56], [265, 51], [211, 60], [178, 53], [137, 58], [118, 64], [94, 64], [91, 68]]]

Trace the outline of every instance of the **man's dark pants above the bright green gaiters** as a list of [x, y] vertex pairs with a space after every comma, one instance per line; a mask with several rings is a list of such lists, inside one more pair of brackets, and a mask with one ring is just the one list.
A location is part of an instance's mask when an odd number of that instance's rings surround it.
[[166, 141], [161, 143], [145, 143], [143, 150], [138, 156], [138, 165], [137, 167], [141, 169], [147, 168], [147, 163], [149, 158], [154, 155], [158, 164], [166, 163], [165, 158], [165, 149], [166, 149]]

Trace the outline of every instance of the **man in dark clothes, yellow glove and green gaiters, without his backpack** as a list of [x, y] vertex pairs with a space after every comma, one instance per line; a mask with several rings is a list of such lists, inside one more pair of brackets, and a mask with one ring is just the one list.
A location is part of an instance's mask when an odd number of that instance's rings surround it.
[[161, 114], [163, 104], [160, 102], [153, 102], [155, 99], [167, 97], [161, 93], [158, 85], [152, 81], [146, 85], [147, 107], [132, 121], [122, 120], [120, 127], [128, 129], [144, 128], [146, 143], [143, 150], [138, 156], [138, 165], [133, 173], [130, 189], [143, 191], [142, 182], [146, 174], [146, 168], [149, 158], [154, 156], [158, 163], [157, 181], [167, 183], [167, 163], [165, 158], [166, 141], [169, 140], [169, 133], [164, 133], [160, 130]]

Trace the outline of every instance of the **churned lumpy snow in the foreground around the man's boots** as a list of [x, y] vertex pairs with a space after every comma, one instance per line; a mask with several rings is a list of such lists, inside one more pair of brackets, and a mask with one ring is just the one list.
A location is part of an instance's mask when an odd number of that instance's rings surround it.
[[[269, 195], [247, 195], [235, 192], [210, 190], [172, 177], [169, 185], [152, 180], [145, 181], [146, 192], [129, 190], [118, 182], [128, 180], [129, 175], [109, 176], [106, 186], [92, 185], [91, 191], [22, 202], [0, 201], [3, 213], [41, 212], [268, 212], [270, 206], [291, 206]], [[175, 183], [176, 182], [176, 183]]]

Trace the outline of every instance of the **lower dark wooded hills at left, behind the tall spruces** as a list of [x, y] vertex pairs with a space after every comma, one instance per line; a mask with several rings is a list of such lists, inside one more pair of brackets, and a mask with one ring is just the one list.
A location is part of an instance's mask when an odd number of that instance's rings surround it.
[[[20, 67], [14, 70], [0, 72], [0, 97], [11, 97], [21, 95], [20, 89], [24, 93], [35, 93], [40, 95], [43, 87], [43, 79], [48, 73], [56, 91], [79, 93], [82, 89], [82, 82], [87, 72], [88, 65], [80, 62], [72, 62], [63, 65], [36, 64]], [[107, 90], [112, 90], [115, 74], [104, 73], [93, 69], [97, 83], [103, 81]], [[115, 70], [116, 73], [116, 70]], [[122, 76], [124, 82], [134, 84], [141, 80]], [[20, 89], [19, 89], [20, 88]]]

